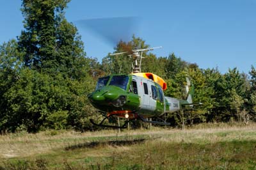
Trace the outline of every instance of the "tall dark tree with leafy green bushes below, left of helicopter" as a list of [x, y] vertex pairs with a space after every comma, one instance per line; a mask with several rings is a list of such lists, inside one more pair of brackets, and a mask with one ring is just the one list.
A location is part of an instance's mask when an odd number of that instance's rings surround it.
[[63, 10], [68, 1], [22, 1], [24, 31], [0, 47], [0, 130], [77, 128], [88, 115], [86, 95], [95, 79], [76, 27]]

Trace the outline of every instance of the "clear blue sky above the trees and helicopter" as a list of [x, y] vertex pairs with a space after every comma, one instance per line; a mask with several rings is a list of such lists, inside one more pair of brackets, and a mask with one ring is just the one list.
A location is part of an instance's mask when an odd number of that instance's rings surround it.
[[[0, 6], [0, 43], [20, 35], [21, 1], [4, 1]], [[72, 0], [66, 10], [70, 22], [106, 17], [139, 17], [136, 36], [157, 56], [175, 55], [200, 68], [225, 73], [237, 67], [248, 73], [256, 67], [256, 0], [165, 0], [82, 1]], [[113, 44], [77, 26], [87, 56], [101, 61]]]

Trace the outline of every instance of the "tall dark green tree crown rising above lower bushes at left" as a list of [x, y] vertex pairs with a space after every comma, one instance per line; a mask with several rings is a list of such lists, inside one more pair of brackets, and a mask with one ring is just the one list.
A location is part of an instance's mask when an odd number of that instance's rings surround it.
[[[39, 72], [83, 77], [83, 42], [63, 10], [69, 0], [23, 1], [24, 28], [18, 38], [24, 64]], [[82, 75], [81, 75], [82, 73]]]

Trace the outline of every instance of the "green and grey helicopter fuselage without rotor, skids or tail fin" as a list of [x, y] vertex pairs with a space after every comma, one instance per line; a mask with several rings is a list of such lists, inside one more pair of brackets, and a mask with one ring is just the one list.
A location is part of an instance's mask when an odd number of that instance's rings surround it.
[[88, 98], [100, 111], [122, 118], [136, 118], [137, 114], [144, 118], [157, 117], [189, 104], [187, 100], [164, 97], [163, 87], [157, 82], [132, 74], [99, 78]]

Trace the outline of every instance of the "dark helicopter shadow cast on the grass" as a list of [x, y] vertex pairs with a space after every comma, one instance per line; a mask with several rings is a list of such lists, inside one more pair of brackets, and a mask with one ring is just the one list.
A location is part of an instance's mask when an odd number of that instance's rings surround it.
[[120, 141], [93, 141], [90, 143], [79, 143], [67, 146], [65, 150], [76, 150], [81, 148], [96, 148], [98, 146], [125, 146], [132, 144], [144, 143], [146, 139], [132, 139], [132, 140], [120, 140]]

